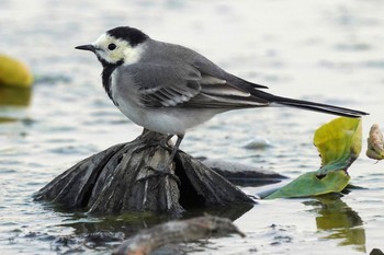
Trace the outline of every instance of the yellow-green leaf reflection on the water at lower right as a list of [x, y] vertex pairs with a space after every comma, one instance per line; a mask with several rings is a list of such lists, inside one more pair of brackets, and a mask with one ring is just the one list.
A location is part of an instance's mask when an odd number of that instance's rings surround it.
[[316, 197], [304, 204], [314, 207], [310, 211], [319, 215], [316, 225], [325, 233], [323, 239], [341, 240], [339, 245], [353, 245], [357, 251], [366, 252], [363, 221], [339, 196]]

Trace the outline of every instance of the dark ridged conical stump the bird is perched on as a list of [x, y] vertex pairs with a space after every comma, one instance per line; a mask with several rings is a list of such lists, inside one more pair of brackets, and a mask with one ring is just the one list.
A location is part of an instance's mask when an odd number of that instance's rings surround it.
[[140, 181], [163, 169], [165, 135], [144, 130], [134, 141], [113, 146], [74, 165], [35, 194], [68, 209], [88, 212], [155, 211], [179, 215], [185, 208], [255, 201], [213, 170], [179, 150], [169, 175]]

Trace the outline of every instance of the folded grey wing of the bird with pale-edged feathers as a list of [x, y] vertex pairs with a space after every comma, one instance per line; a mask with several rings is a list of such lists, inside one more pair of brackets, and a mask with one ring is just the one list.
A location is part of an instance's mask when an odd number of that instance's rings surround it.
[[[267, 106], [249, 86], [234, 85], [191, 65], [135, 63], [129, 71], [147, 107], [238, 108]], [[251, 86], [251, 90], [255, 88]]]

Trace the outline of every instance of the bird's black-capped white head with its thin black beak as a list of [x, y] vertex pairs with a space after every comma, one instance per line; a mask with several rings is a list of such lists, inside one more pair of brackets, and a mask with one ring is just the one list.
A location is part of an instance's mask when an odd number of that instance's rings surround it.
[[134, 63], [143, 54], [143, 43], [149, 37], [142, 31], [118, 26], [106, 31], [92, 44], [77, 46], [77, 49], [94, 53], [99, 61], [105, 66]]

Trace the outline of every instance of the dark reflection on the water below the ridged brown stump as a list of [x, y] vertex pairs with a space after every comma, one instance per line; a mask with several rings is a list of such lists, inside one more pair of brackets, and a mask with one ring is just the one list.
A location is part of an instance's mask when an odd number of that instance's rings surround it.
[[[211, 208], [204, 211], [196, 209], [185, 213], [184, 217], [192, 218], [208, 213], [236, 220], [252, 207], [252, 205], [245, 204], [234, 207]], [[66, 213], [60, 206], [49, 206], [46, 209], [54, 210], [57, 213]], [[77, 253], [79, 251], [91, 253], [102, 247], [111, 251], [124, 239], [136, 234], [138, 231], [169, 220], [171, 219], [167, 215], [159, 216], [153, 212], [125, 212], [100, 217], [77, 212], [72, 213], [72, 216], [68, 216], [63, 223], [56, 225], [56, 228], [72, 229], [72, 234], [54, 235], [48, 232], [30, 232], [24, 235], [20, 234], [13, 236], [12, 242], [22, 243], [25, 237], [30, 240], [39, 240], [49, 243], [55, 250], [59, 250], [64, 254]], [[90, 239], [92, 241], [90, 241]], [[97, 242], [94, 242], [94, 240], [97, 240]], [[196, 248], [199, 247], [193, 247], [192, 250]]]

